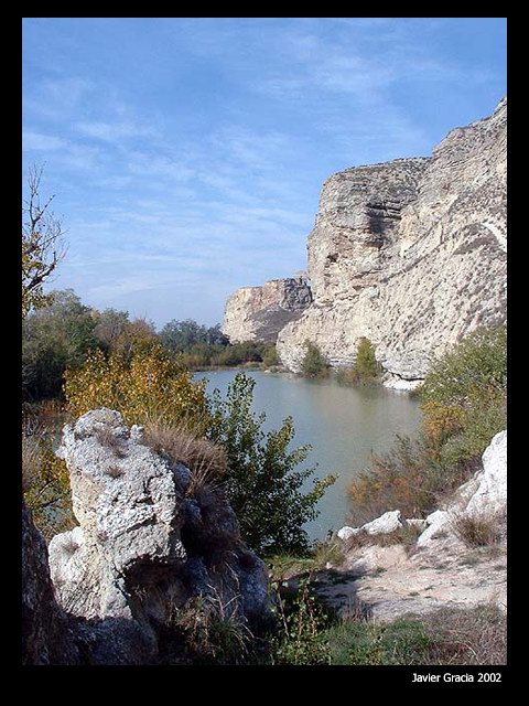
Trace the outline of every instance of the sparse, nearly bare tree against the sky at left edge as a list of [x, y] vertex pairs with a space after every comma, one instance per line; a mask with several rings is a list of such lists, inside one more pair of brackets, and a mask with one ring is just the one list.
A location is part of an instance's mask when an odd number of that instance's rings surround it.
[[29, 199], [22, 207], [22, 317], [48, 303], [44, 281], [65, 255], [61, 221], [50, 210], [54, 196], [42, 202], [43, 168], [32, 167], [28, 178]]

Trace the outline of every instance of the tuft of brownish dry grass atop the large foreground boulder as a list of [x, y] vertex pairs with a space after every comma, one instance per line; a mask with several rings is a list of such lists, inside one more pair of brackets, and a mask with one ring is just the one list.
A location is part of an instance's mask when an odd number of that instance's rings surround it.
[[149, 424], [144, 429], [144, 443], [156, 453], [165, 453], [191, 471], [188, 494], [204, 485], [215, 485], [227, 470], [227, 456], [222, 446], [198, 436], [188, 427], [166, 427]]

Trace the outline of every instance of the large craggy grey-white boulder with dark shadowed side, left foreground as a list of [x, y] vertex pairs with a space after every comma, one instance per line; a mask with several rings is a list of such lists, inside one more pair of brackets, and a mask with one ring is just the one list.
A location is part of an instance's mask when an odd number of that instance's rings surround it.
[[[142, 443], [121, 415], [97, 409], [67, 425], [57, 452], [79, 526], [50, 543], [51, 578], [71, 617], [98, 627], [97, 663], [145, 664], [160, 629], [190, 598], [220, 601], [249, 622], [268, 609], [263, 563], [240, 539], [219, 491], [190, 491], [191, 472]], [[94, 652], [94, 650], [93, 650]]]

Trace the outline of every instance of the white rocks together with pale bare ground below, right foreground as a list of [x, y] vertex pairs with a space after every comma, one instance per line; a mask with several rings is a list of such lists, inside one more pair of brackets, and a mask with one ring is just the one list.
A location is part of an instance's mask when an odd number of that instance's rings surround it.
[[[345, 558], [327, 566], [328, 574], [319, 574], [317, 593], [343, 614], [385, 621], [441, 608], [497, 606], [505, 611], [506, 486], [507, 431], [500, 431], [483, 454], [483, 469], [425, 520], [402, 521], [392, 511], [361, 528], [343, 527], [338, 537]], [[490, 544], [486, 536], [475, 542], [476, 535], [463, 532], [473, 523], [489, 528]], [[404, 544], [389, 544], [384, 535], [393, 531]], [[417, 543], [411, 542], [414, 533], [420, 533]]]

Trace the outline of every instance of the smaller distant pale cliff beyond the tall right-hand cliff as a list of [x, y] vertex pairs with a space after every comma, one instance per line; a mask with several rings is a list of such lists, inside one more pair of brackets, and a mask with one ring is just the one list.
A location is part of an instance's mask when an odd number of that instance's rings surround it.
[[303, 277], [242, 287], [226, 302], [223, 333], [231, 343], [276, 343], [280, 330], [299, 319], [311, 302], [311, 288]]

